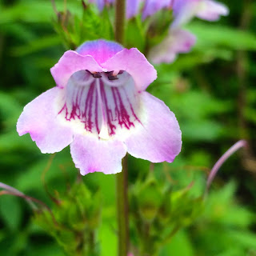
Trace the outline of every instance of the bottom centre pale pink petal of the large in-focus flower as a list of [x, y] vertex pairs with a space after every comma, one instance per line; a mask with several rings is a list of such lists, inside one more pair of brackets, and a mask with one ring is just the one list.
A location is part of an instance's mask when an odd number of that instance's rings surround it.
[[70, 145], [75, 166], [82, 175], [95, 171], [104, 174], [117, 174], [122, 171], [122, 158], [126, 146], [116, 140], [102, 140], [94, 136], [77, 135]]

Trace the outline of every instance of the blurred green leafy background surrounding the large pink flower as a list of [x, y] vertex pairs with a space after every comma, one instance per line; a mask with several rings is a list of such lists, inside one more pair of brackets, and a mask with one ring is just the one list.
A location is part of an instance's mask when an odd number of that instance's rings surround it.
[[[161, 256], [256, 255], [253, 158], [256, 150], [256, 3], [252, 0], [223, 2], [230, 7], [229, 17], [215, 24], [191, 22], [188, 29], [198, 37], [194, 50], [181, 54], [173, 64], [156, 66], [158, 80], [148, 90], [164, 100], [176, 114], [182, 129], [183, 148], [173, 164], [154, 165], [154, 174], [160, 181], [167, 179], [177, 190], [194, 182], [190, 193], [196, 198], [205, 189], [206, 174], [202, 170], [209, 170], [235, 141], [246, 138], [250, 151], [244, 152], [242, 158], [237, 154], [222, 166], [222, 173], [206, 198], [206, 210], [191, 226], [178, 231], [162, 249]], [[56, 4], [58, 10], [65, 10], [62, 0]], [[45, 182], [51, 194], [57, 193], [54, 191], [65, 194], [66, 186], [74, 183], [78, 171], [68, 148], [53, 158], [41, 154], [30, 135], [20, 138], [16, 132], [18, 116], [26, 103], [54, 86], [50, 67], [58, 62], [64, 50], [74, 48], [85, 39], [97, 38], [103, 32], [104, 37], [113, 37], [110, 23], [102, 24], [96, 16], [90, 19], [83, 16], [85, 10], [80, 1], [67, 1], [67, 10], [74, 19], [74, 26], [70, 27], [75, 32], [70, 34], [73, 45], [65, 34], [63, 42], [63, 37], [55, 33], [54, 29], [60, 30], [60, 24], [50, 1], [0, 1], [0, 181], [50, 207], [53, 202], [43, 186], [42, 173], [47, 170]], [[106, 18], [106, 13], [103, 17]], [[86, 34], [86, 27], [80, 26], [79, 20], [85, 18], [86, 26], [98, 28], [95, 34]], [[142, 41], [145, 33], [142, 25], [132, 20], [128, 26], [127, 45], [143, 50], [146, 42]], [[74, 36], [78, 34], [79, 37]], [[130, 157], [130, 184], [138, 178], [144, 180], [150, 168], [149, 162]], [[226, 182], [230, 179], [233, 181]], [[114, 175], [88, 174], [82, 180], [90, 190], [101, 190], [102, 223], [98, 242], [102, 256], [115, 255]], [[138, 187], [139, 193], [145, 194], [142, 189]], [[152, 190], [150, 188], [150, 193]], [[155, 196], [156, 193], [152, 194], [150, 199]], [[31, 221], [32, 215], [21, 198], [0, 197], [0, 254], [64, 255], [54, 239]], [[136, 244], [136, 234], [131, 236]]]

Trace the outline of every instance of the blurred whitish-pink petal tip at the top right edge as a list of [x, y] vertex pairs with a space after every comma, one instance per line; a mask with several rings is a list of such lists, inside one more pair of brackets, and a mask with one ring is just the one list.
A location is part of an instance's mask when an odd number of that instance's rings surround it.
[[198, 18], [205, 19], [213, 22], [217, 21], [220, 16], [226, 16], [229, 14], [229, 9], [221, 2], [215, 2], [212, 0], [204, 0], [198, 9], [196, 16]]

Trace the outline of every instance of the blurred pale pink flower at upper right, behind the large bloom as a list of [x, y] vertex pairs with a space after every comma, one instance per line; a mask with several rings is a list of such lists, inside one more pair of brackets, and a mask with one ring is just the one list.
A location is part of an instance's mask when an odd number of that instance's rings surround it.
[[[147, 2], [155, 2], [147, 0]], [[183, 30], [190, 19], [195, 16], [208, 21], [218, 20], [220, 15], [227, 15], [229, 10], [222, 3], [212, 0], [171, 0], [167, 5], [166, 0], [162, 0], [162, 7], [172, 6], [174, 21], [170, 24], [169, 34], [157, 46], [149, 52], [150, 62], [159, 64], [162, 62], [174, 62], [177, 55], [187, 53], [196, 42], [196, 37], [187, 30]], [[160, 5], [160, 2], [158, 2]], [[154, 9], [155, 11], [157, 8]]]

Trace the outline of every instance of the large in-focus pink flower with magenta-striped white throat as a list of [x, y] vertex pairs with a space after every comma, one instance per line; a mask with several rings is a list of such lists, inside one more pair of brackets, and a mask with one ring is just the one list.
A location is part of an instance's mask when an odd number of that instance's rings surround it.
[[70, 144], [82, 175], [122, 170], [126, 152], [150, 162], [173, 162], [181, 150], [178, 122], [147, 93], [156, 70], [137, 49], [116, 42], [86, 42], [51, 69], [57, 84], [27, 104], [19, 135], [30, 133], [42, 153]]

